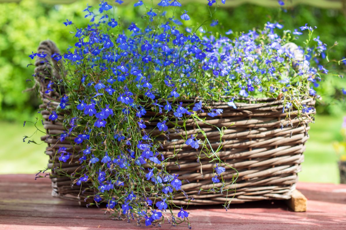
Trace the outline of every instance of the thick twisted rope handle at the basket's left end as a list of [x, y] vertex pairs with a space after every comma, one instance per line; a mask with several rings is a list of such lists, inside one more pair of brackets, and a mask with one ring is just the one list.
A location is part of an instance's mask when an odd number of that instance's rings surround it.
[[[41, 98], [58, 100], [61, 95], [65, 93], [64, 88], [59, 87], [60, 84], [57, 84], [61, 80], [61, 74], [63, 73], [63, 62], [61, 59], [56, 61], [51, 56], [54, 53], [60, 53], [60, 51], [54, 42], [51, 40], [45, 40], [39, 44], [37, 49], [38, 54], [42, 54], [42, 52], [47, 55], [44, 58], [36, 56], [35, 81], [39, 85]], [[54, 90], [47, 92], [50, 81], [54, 83], [51, 86], [51, 89]]]

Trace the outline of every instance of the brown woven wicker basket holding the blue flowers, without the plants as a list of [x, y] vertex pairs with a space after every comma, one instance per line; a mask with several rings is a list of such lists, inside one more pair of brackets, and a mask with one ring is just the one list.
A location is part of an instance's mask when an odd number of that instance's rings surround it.
[[[38, 48], [39, 53], [51, 54], [58, 52], [55, 44], [51, 41], [44, 41]], [[72, 145], [72, 139], [66, 138], [64, 141], [56, 136], [62, 133], [66, 128], [59, 121], [48, 120], [51, 111], [55, 110], [58, 104], [59, 95], [55, 92], [44, 93], [50, 79], [59, 80], [59, 71], [55, 71], [52, 66], [44, 62], [44, 59], [37, 58], [36, 60], [36, 80], [40, 84], [40, 96], [43, 99], [43, 104], [40, 108], [44, 121], [44, 128], [47, 135], [42, 137], [48, 147], [46, 154], [49, 156], [48, 168], [52, 169], [52, 187], [53, 196], [80, 200], [91, 195], [92, 192], [84, 187], [89, 187], [88, 184], [80, 186], [72, 186], [72, 181], [68, 177], [60, 176], [60, 170], [68, 173], [73, 173], [79, 170], [80, 165], [77, 163], [80, 154], [80, 146]], [[57, 63], [53, 61], [55, 69]], [[233, 197], [232, 202], [241, 203], [246, 201], [266, 200], [266, 199], [289, 199], [291, 192], [295, 189], [295, 183], [298, 181], [297, 173], [301, 171], [301, 162], [304, 160], [303, 151], [305, 150], [304, 143], [307, 141], [307, 130], [309, 126], [304, 125], [296, 119], [297, 110], [291, 112], [291, 122], [286, 126], [285, 113], [282, 113], [282, 100], [274, 98], [262, 99], [247, 99], [247, 103], [236, 103], [237, 109], [233, 109], [223, 102], [212, 103], [216, 108], [222, 108], [224, 112], [222, 116], [211, 118], [207, 114], [201, 113], [201, 118], [206, 117], [208, 123], [217, 127], [230, 126], [225, 130], [222, 136], [222, 150], [219, 152], [220, 158], [236, 168], [239, 172], [239, 177], [235, 184], [230, 188], [236, 189], [236, 193], [229, 192], [226, 194], [200, 192], [200, 188], [209, 189], [213, 186], [211, 178], [213, 173], [213, 163], [207, 160], [199, 163], [196, 161], [196, 153], [191, 147], [184, 145], [183, 140], [177, 140], [177, 131], [185, 132], [184, 130], [176, 130], [170, 128], [170, 133], [167, 134], [169, 139], [161, 139], [163, 142], [163, 150], [165, 157], [173, 154], [174, 148], [182, 147], [179, 152], [180, 169], [177, 168], [175, 162], [168, 162], [167, 170], [171, 173], [179, 174], [179, 179], [188, 180], [184, 182], [182, 189], [192, 196], [194, 201], [192, 204], [217, 204], [224, 203], [226, 197], [228, 200]], [[191, 104], [193, 100], [184, 101], [183, 105]], [[315, 101], [313, 99], [304, 100], [303, 103], [312, 106]], [[147, 125], [147, 131], [150, 132], [156, 126], [158, 120], [152, 117], [155, 114], [147, 112], [143, 120], [151, 120]], [[307, 115], [308, 116], [308, 115]], [[63, 119], [63, 114], [59, 114], [58, 120]], [[284, 124], [283, 129], [282, 124]], [[292, 124], [292, 126], [291, 126]], [[218, 146], [220, 142], [220, 134], [217, 129], [208, 126], [204, 123], [199, 124], [206, 132], [211, 144]], [[188, 134], [199, 133], [195, 129], [194, 121], [186, 123]], [[203, 139], [202, 134], [198, 134], [199, 138]], [[56, 155], [56, 150], [59, 147], [70, 148], [72, 160], [62, 163], [61, 169]], [[226, 167], [227, 169], [227, 167]], [[204, 178], [201, 177], [203, 172]], [[231, 180], [235, 175], [234, 170], [226, 170], [223, 173], [225, 180]], [[221, 187], [221, 183], [217, 184]], [[227, 188], [227, 186], [225, 187]], [[231, 194], [233, 193], [233, 194]], [[187, 199], [184, 195], [175, 196], [176, 204], [186, 204]]]

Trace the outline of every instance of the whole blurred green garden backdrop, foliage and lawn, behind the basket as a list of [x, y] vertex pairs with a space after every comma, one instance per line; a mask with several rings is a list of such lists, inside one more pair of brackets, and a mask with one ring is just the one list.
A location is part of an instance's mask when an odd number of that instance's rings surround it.
[[[133, 7], [134, 1], [130, 2], [115, 9], [121, 18], [124, 15], [124, 23], [141, 16]], [[200, 22], [210, 14], [206, 1], [186, 2], [184, 9], [192, 19], [188, 23]], [[257, 1], [261, 6], [241, 4], [241, 0], [227, 2], [228, 6], [219, 8], [213, 15], [214, 20], [219, 20], [219, 25], [206, 26], [206, 29], [215, 32], [229, 29], [248, 31], [262, 28], [267, 21], [278, 21], [285, 30], [293, 30], [308, 23], [317, 26], [316, 34], [328, 47], [338, 42], [338, 46], [330, 50], [330, 59], [340, 60], [346, 56], [346, 19], [340, 2], [328, 4], [327, 0], [317, 0], [310, 2], [313, 6], [308, 6], [299, 3], [309, 1], [285, 1], [288, 7], [284, 9], [273, 0]], [[34, 68], [27, 67], [33, 63], [28, 55], [36, 51], [39, 42], [45, 39], [53, 40], [61, 50], [66, 50], [73, 36], [63, 22], [69, 19], [77, 26], [86, 25], [89, 20], [84, 19], [85, 13], [82, 12], [86, 3], [95, 6], [97, 1], [22, 0], [0, 3], [1, 11], [5, 12], [0, 14], [0, 173], [35, 173], [45, 168], [48, 160], [44, 154], [45, 143], [36, 145], [22, 141], [24, 135], [34, 134], [29, 139], [40, 143], [39, 137], [42, 136], [42, 133], [35, 133], [33, 124], [27, 123], [24, 128], [22, 125], [24, 120], [35, 121], [39, 105], [35, 91], [22, 92], [33, 86], [30, 80]], [[301, 181], [339, 182], [338, 157], [333, 143], [342, 140], [339, 130], [346, 115], [346, 103], [340, 88], [346, 88], [346, 80], [337, 75], [343, 74], [346, 68], [344, 63], [339, 66], [327, 64], [327, 68], [331, 71], [318, 91], [323, 100], [317, 104], [316, 123], [311, 124], [303, 171], [299, 174]]]

